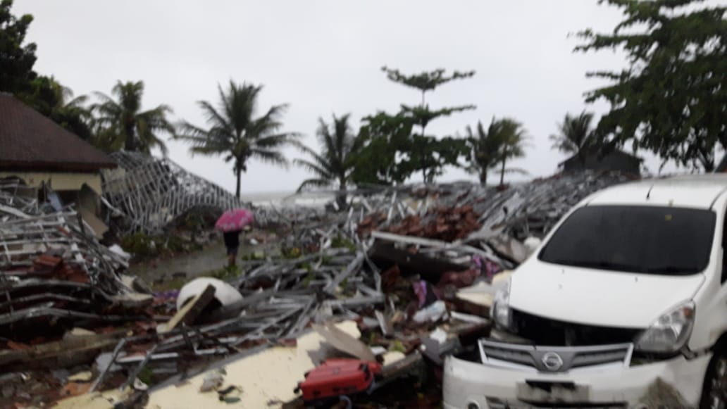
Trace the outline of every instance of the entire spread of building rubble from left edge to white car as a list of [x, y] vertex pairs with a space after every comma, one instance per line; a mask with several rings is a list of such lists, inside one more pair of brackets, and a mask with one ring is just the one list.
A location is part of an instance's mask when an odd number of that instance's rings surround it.
[[[162, 229], [193, 206], [241, 205], [170, 161], [115, 155], [121, 170], [105, 174], [105, 199], [129, 228]], [[310, 371], [350, 364], [341, 357], [374, 368], [377, 385], [425, 363], [440, 368], [443, 357], [476, 349], [489, 334], [495, 291], [529, 255], [521, 240], [545, 235], [582, 198], [624, 180], [587, 173], [505, 189], [391, 188], [353, 195], [347, 212], [326, 217], [270, 208], [289, 231], [280, 257], [153, 294], [121, 276], [127, 255], [97, 243], [75, 212], [39, 206], [19, 186], [0, 185], [0, 368], [84, 365], [83, 381], [60, 381], [68, 394], [113, 388], [128, 392], [127, 403], [148, 397], [158, 407], [164, 397], [187, 394], [204, 398], [189, 407], [307, 400]], [[47, 325], [19, 332], [29, 317]], [[241, 369], [225, 375], [221, 362]], [[241, 384], [249, 368], [289, 384], [267, 386], [269, 402], [252, 403], [263, 386], [257, 378]], [[436, 387], [429, 389], [434, 399]]]

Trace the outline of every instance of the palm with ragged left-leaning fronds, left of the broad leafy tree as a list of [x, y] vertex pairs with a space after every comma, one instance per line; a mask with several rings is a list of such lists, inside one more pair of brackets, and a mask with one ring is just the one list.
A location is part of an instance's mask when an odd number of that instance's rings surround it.
[[[353, 171], [351, 154], [356, 143], [356, 134], [353, 134], [348, 124], [349, 118], [349, 113], [340, 118], [336, 118], [334, 114], [331, 126], [323, 118], [318, 118], [316, 137], [321, 144], [321, 153], [318, 154], [310, 147], [300, 145], [300, 149], [310, 156], [310, 160], [294, 161], [295, 164], [313, 172], [316, 177], [303, 181], [298, 187], [299, 192], [309, 186], [327, 187], [335, 182], [338, 183], [338, 190], [346, 189]], [[346, 194], [337, 195], [336, 201], [339, 208], [343, 208], [346, 205]]]

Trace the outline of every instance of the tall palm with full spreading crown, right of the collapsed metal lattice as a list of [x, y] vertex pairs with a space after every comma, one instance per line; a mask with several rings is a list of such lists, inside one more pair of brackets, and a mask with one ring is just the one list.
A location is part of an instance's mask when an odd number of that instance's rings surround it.
[[198, 102], [209, 129], [183, 122], [179, 138], [192, 144], [190, 152], [193, 154], [225, 155], [225, 162], [233, 161], [237, 177], [235, 194], [239, 198], [241, 174], [247, 171], [248, 159], [288, 166], [280, 148], [293, 143], [299, 134], [278, 131], [283, 126], [281, 117], [287, 105], [273, 105], [262, 116], [255, 116], [262, 85], [238, 85], [230, 81], [227, 92], [220, 85], [217, 89], [220, 93], [218, 108], [207, 101]]

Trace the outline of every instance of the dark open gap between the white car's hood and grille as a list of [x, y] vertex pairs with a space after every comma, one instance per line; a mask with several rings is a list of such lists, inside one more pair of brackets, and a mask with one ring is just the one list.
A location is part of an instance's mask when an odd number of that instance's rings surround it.
[[566, 323], [539, 317], [527, 312], [510, 309], [511, 331], [529, 339], [536, 345], [562, 347], [626, 344], [632, 342], [641, 331], [638, 328], [612, 328], [595, 325]]

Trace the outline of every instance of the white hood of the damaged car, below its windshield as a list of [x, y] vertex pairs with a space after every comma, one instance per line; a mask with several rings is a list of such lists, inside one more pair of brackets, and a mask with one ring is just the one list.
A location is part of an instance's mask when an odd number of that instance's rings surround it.
[[694, 297], [704, 275], [592, 270], [531, 259], [513, 274], [510, 307], [569, 323], [646, 328]]

